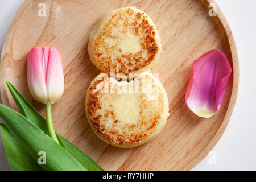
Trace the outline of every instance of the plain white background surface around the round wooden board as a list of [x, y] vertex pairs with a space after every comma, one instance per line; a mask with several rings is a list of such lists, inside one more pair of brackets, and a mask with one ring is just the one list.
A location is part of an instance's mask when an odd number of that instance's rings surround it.
[[[0, 48], [23, 0], [0, 2]], [[256, 1], [216, 0], [232, 29], [240, 63], [240, 85], [229, 125], [210, 156], [194, 170], [256, 170]], [[5, 80], [1, 80], [5, 81]], [[0, 137], [0, 170], [10, 170]]]

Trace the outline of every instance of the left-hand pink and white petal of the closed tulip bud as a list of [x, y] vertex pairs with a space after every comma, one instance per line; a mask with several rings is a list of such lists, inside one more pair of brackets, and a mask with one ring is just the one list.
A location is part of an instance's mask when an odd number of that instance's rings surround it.
[[43, 49], [32, 48], [27, 57], [27, 82], [31, 95], [39, 102], [46, 104], [47, 91], [43, 65]]

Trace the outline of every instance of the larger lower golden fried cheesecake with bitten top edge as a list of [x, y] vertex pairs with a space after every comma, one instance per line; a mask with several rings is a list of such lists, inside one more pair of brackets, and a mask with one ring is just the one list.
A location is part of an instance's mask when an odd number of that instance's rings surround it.
[[100, 73], [87, 90], [85, 111], [96, 135], [122, 148], [155, 138], [170, 115], [166, 91], [149, 72], [130, 82]]

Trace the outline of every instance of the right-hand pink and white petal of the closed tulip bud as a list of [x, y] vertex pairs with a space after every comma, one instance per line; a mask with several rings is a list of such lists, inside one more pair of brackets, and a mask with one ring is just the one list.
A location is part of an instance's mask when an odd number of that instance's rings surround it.
[[57, 102], [64, 91], [64, 74], [60, 53], [55, 47], [49, 48], [49, 60], [46, 73], [48, 102]]

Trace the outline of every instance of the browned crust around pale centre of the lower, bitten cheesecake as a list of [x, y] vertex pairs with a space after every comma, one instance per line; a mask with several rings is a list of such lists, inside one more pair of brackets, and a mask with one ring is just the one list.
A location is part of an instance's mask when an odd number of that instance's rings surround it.
[[[106, 81], [104, 80], [106, 74], [102, 74], [90, 84], [85, 100], [86, 115], [96, 134], [106, 142], [120, 147], [138, 146], [137, 143], [142, 144], [154, 138], [160, 132], [156, 130], [162, 130], [167, 120], [168, 108], [166, 109], [166, 107], [168, 107], [168, 100], [166, 101], [166, 93], [159, 92], [156, 100], [148, 100], [146, 93], [138, 94], [138, 103], [140, 104], [137, 122], [124, 123], [115, 115], [117, 111], [114, 110], [114, 102], [108, 102], [108, 109], [106, 109], [106, 102], [104, 103], [106, 98], [119, 96], [118, 94], [115, 94], [115, 96], [108, 94], [106, 96], [106, 93], [101, 93], [105, 89], [104, 84], [101, 83]], [[146, 75], [146, 79], [151, 78]], [[101, 86], [99, 87], [99, 85]], [[158, 85], [153, 85], [158, 87]], [[118, 88], [118, 84], [115, 85], [115, 88]], [[110, 85], [108, 92], [110, 93]], [[110, 121], [113, 122], [110, 123]]]

